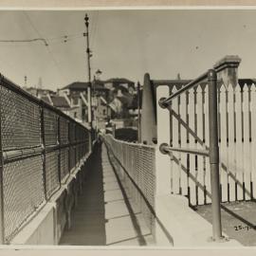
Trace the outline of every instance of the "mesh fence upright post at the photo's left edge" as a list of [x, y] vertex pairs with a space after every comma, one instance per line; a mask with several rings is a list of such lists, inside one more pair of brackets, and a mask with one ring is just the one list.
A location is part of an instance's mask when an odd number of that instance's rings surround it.
[[[1, 109], [0, 109], [1, 110]], [[2, 117], [0, 111], [0, 245], [5, 244], [5, 210], [4, 210], [4, 158], [2, 148]]]

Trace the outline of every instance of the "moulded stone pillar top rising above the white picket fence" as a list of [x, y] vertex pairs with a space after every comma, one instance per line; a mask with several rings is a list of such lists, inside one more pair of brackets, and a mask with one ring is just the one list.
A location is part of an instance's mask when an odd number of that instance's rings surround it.
[[214, 64], [214, 69], [217, 71], [217, 80], [223, 82], [226, 86], [232, 84], [235, 86], [238, 83], [237, 69], [241, 62], [241, 58], [237, 55], [228, 55]]

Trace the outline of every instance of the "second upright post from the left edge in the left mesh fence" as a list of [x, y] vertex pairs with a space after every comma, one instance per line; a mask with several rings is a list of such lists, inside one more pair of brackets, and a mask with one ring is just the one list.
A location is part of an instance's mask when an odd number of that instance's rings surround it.
[[45, 119], [44, 119], [44, 102], [42, 101], [40, 107], [40, 119], [41, 119], [41, 143], [42, 143], [42, 158], [43, 158], [43, 182], [44, 193], [47, 200], [47, 188], [46, 188], [46, 137], [45, 137]]

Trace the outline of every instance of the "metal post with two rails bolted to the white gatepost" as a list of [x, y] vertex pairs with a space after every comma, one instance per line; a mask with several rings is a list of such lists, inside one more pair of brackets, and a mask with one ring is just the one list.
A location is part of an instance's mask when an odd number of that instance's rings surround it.
[[[221, 70], [218, 70], [221, 71]], [[208, 80], [209, 85], [209, 136], [210, 149], [202, 151], [197, 149], [177, 149], [161, 144], [160, 151], [163, 154], [170, 154], [173, 151], [186, 152], [195, 155], [206, 155], [210, 157], [210, 186], [211, 186], [211, 210], [212, 210], [212, 239], [220, 241], [222, 236], [221, 211], [220, 211], [220, 183], [219, 183], [219, 147], [218, 147], [218, 123], [217, 123], [217, 71], [210, 69], [197, 79], [189, 82], [187, 85], [176, 91], [169, 98], [162, 98], [158, 102], [160, 107], [169, 108], [174, 98], [188, 91], [199, 82]]]

